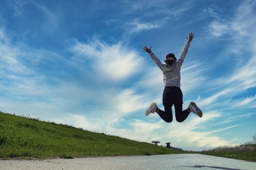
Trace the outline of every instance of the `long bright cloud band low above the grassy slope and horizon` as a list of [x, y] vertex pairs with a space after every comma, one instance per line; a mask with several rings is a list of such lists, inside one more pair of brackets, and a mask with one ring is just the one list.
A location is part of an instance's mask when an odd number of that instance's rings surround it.
[[[72, 117], [71, 117], [72, 116]], [[158, 117], [149, 115], [150, 117]], [[212, 119], [220, 117], [221, 114], [217, 112], [208, 112], [203, 118], [199, 118], [196, 115], [190, 115], [183, 123], [178, 123], [175, 120], [172, 123], [165, 123], [160, 120], [158, 122], [145, 122], [143, 120], [130, 120], [128, 125], [130, 128], [120, 129], [115, 128], [111, 124], [106, 124], [104, 119], [96, 120], [93, 118], [86, 118], [85, 116], [69, 115], [66, 120], [72, 120], [70, 122], [83, 127], [85, 129], [91, 129], [94, 127], [96, 131], [107, 132], [111, 135], [118, 135], [128, 139], [136, 139], [138, 141], [152, 141], [159, 140], [171, 142], [174, 147], [182, 147], [183, 149], [200, 150], [202, 148], [207, 149], [209, 147], [215, 147], [216, 145], [231, 145], [233, 141], [227, 141], [222, 139], [214, 133], [220, 131], [226, 131], [236, 127], [236, 125], [228, 126], [224, 128], [215, 128], [211, 131], [204, 131], [204, 127], [209, 123], [213, 126], [215, 123]], [[95, 122], [94, 124], [92, 122]], [[236, 140], [238, 141], [238, 140]]]

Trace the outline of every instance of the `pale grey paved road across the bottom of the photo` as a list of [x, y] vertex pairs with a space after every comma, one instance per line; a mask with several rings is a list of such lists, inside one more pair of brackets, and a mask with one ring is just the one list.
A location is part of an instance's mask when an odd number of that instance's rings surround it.
[[0, 170], [256, 170], [256, 162], [200, 154], [0, 160]]

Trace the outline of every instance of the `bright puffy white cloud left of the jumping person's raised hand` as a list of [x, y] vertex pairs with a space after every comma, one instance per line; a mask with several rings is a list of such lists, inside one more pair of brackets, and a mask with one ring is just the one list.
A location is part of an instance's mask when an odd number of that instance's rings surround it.
[[101, 79], [120, 81], [140, 70], [142, 57], [121, 42], [107, 45], [97, 39], [90, 44], [75, 40], [71, 51], [75, 53], [74, 62], [82, 62], [86, 66], [86, 61], [90, 60], [94, 72]]

